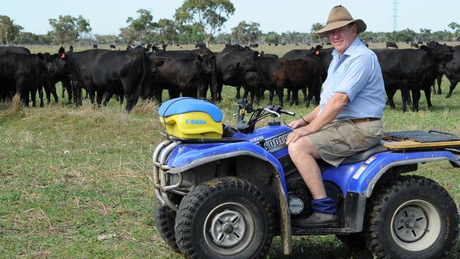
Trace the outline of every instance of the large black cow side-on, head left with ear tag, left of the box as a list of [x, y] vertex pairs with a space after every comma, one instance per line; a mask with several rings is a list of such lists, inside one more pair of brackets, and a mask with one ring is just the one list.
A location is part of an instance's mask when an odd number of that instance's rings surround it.
[[144, 50], [86, 50], [84, 52], [65, 53], [59, 49], [55, 59], [57, 72], [69, 74], [76, 84], [76, 105], [81, 105], [81, 88], [86, 88], [91, 104], [101, 104], [105, 92], [124, 94], [129, 112], [137, 103], [139, 96], [153, 96], [149, 87], [156, 71], [156, 63], [151, 63]]

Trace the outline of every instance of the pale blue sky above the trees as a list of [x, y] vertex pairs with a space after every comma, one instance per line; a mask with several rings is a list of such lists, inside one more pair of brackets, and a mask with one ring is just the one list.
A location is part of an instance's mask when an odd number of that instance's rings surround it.
[[[367, 30], [373, 32], [393, 31], [393, 1], [397, 1], [396, 30], [410, 28], [420, 32], [420, 28], [450, 30], [451, 22], [460, 24], [459, 0], [438, 0], [436, 4], [419, 0], [231, 0], [235, 13], [224, 23], [223, 32], [230, 32], [240, 21], [260, 24], [263, 33], [275, 31], [297, 31], [309, 33], [314, 23], [326, 23], [330, 8], [345, 6], [353, 18], [362, 19]], [[154, 21], [161, 18], [173, 19], [176, 8], [183, 0], [8, 0], [2, 1], [0, 15], [9, 16], [15, 24], [23, 26], [23, 31], [45, 34], [51, 30], [50, 18], [59, 15], [79, 15], [88, 19], [93, 34], [106, 35], [120, 33], [127, 25], [128, 17], [137, 18], [137, 10], [151, 11]]]

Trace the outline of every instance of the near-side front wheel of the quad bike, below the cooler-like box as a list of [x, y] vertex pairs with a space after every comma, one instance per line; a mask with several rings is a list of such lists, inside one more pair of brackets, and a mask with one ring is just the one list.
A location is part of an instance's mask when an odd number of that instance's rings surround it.
[[263, 258], [274, 224], [256, 185], [216, 178], [197, 185], [180, 202], [176, 240], [185, 258]]

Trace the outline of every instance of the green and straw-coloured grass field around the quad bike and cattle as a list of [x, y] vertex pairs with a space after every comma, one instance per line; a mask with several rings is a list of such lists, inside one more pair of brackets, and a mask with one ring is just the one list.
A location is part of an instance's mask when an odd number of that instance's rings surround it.
[[[283, 54], [299, 46], [282, 47], [266, 51]], [[384, 111], [385, 130], [460, 135], [460, 90], [446, 99], [448, 85], [444, 79], [443, 95], [432, 96], [432, 110], [422, 94], [419, 113], [402, 113], [397, 93], [398, 110]], [[234, 88], [224, 87], [219, 103], [230, 125], [236, 122], [234, 95]], [[96, 109], [88, 100], [82, 108], [64, 103], [45, 108], [0, 103], [0, 258], [181, 258], [161, 240], [151, 212], [151, 153], [163, 139], [158, 107], [138, 104], [127, 114], [115, 100]], [[312, 108], [285, 109], [299, 116]], [[436, 180], [460, 205], [458, 169], [439, 162], [421, 165], [417, 173]], [[285, 258], [279, 237], [268, 258]], [[372, 255], [350, 250], [335, 236], [304, 236], [294, 238], [291, 258]], [[451, 258], [460, 258], [459, 244]]]

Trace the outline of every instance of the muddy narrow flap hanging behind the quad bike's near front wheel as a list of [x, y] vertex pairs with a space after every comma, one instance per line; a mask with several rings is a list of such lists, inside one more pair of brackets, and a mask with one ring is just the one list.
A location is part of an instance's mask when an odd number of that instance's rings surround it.
[[284, 255], [292, 253], [291, 215], [287, 207], [287, 195], [284, 193], [280, 182], [280, 175], [276, 174], [277, 194], [280, 200], [280, 235]]

